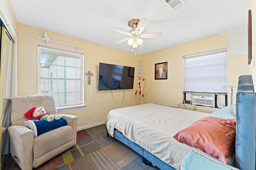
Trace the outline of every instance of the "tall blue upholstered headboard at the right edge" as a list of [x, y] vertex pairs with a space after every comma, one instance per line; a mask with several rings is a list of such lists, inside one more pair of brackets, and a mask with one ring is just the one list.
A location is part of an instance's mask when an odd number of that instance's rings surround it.
[[236, 93], [236, 168], [256, 169], [256, 93], [251, 75], [241, 75]]

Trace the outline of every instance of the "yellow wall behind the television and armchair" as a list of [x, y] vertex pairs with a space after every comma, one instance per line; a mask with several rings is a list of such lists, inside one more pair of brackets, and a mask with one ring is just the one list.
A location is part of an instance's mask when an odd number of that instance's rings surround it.
[[[18, 23], [18, 96], [38, 94], [37, 46], [46, 45], [46, 42], [38, 40], [38, 37], [43, 38], [44, 32], [46, 32], [46, 30]], [[61, 112], [63, 114], [78, 116], [78, 127], [84, 127], [86, 125], [107, 120], [107, 114], [111, 109], [140, 104], [139, 97], [134, 95], [134, 90], [132, 89], [112, 91], [115, 101], [110, 91], [98, 91], [98, 67], [100, 62], [137, 68], [140, 59], [139, 55], [135, 56], [132, 53], [123, 52], [50, 31], [47, 31], [47, 34], [51, 40], [84, 47], [85, 49], [78, 50], [78, 52], [84, 53], [84, 72], [90, 70], [94, 73], [94, 76], [91, 77], [91, 86], [87, 85], [87, 77], [84, 76], [84, 101], [86, 107], [84, 109]], [[76, 51], [76, 48], [74, 47], [56, 43], [49, 42], [48, 46]], [[135, 75], [137, 75], [137, 69]], [[90, 93], [91, 88], [93, 88], [92, 97]], [[122, 103], [123, 97], [124, 102]], [[87, 120], [87, 115], [90, 115], [90, 120]]]

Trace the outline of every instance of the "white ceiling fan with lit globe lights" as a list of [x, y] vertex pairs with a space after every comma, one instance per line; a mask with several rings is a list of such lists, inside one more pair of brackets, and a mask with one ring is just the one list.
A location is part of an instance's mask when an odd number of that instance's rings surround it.
[[115, 42], [116, 44], [120, 44], [127, 41], [128, 45], [132, 46], [133, 48], [137, 48], [137, 47], [143, 46], [143, 40], [141, 38], [157, 38], [163, 35], [162, 32], [141, 34], [142, 31], [148, 25], [148, 23], [149, 23], [149, 20], [146, 18], [141, 18], [141, 20], [133, 19], [128, 22], [128, 26], [132, 28], [130, 32], [119, 30], [114, 27], [111, 27], [110, 30], [130, 36], [129, 38], [125, 38], [123, 40]]

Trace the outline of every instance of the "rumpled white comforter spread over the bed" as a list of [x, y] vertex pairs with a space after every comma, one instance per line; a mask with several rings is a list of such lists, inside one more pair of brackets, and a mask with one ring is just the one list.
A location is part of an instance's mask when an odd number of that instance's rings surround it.
[[182, 159], [198, 149], [178, 142], [174, 134], [208, 115], [149, 103], [110, 111], [107, 129], [111, 136], [114, 128], [118, 129], [132, 142], [179, 170]]

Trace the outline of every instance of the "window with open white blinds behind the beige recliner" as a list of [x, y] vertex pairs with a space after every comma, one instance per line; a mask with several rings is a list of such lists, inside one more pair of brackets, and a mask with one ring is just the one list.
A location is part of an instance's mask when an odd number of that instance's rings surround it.
[[38, 94], [52, 95], [58, 107], [84, 105], [84, 55], [38, 45]]

